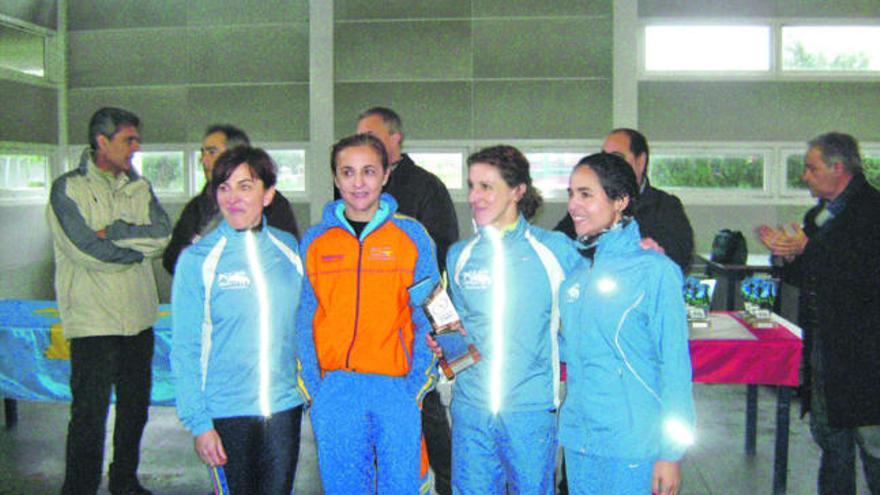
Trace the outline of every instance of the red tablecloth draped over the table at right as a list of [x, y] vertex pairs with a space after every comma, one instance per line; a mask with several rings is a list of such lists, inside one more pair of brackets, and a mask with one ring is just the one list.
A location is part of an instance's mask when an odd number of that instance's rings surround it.
[[[796, 327], [753, 328], [734, 312], [713, 313], [711, 319], [713, 324], [734, 321], [748, 333], [746, 338], [692, 336], [689, 344], [695, 382], [798, 385], [803, 343], [794, 333]], [[700, 334], [711, 332], [710, 327]]]

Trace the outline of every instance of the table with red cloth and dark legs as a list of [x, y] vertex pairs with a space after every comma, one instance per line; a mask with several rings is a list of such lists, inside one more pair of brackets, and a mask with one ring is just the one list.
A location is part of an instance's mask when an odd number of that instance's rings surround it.
[[801, 329], [773, 314], [774, 326], [755, 328], [737, 312], [713, 312], [708, 328], [692, 328], [690, 354], [698, 383], [747, 384], [746, 454], [755, 453], [756, 385], [776, 385], [776, 446], [773, 493], [785, 493], [792, 387], [798, 385], [803, 347]]

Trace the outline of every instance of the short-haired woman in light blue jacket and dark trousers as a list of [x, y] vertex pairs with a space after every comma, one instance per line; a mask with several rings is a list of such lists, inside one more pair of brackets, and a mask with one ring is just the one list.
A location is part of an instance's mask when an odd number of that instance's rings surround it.
[[234, 494], [290, 493], [299, 452], [303, 269], [296, 239], [263, 216], [274, 185], [263, 150], [217, 159], [211, 187], [223, 221], [180, 256], [171, 293], [177, 414]]

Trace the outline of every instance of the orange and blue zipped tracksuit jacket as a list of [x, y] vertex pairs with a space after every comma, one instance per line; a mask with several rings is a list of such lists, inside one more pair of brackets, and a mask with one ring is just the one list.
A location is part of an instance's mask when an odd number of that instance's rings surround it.
[[418, 221], [396, 213], [388, 194], [360, 237], [344, 211], [341, 200], [328, 203], [300, 245], [300, 387], [314, 397], [324, 374], [337, 370], [399, 376], [421, 401], [435, 380], [430, 323], [408, 289], [439, 281], [434, 243]]

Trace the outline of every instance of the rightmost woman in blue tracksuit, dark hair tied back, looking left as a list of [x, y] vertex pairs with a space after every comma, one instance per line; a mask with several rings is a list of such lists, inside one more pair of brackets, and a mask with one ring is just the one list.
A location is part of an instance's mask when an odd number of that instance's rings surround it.
[[694, 437], [681, 270], [640, 247], [635, 174], [597, 153], [572, 172], [568, 211], [592, 260], [560, 289], [567, 394], [559, 438], [570, 493], [675, 494]]

